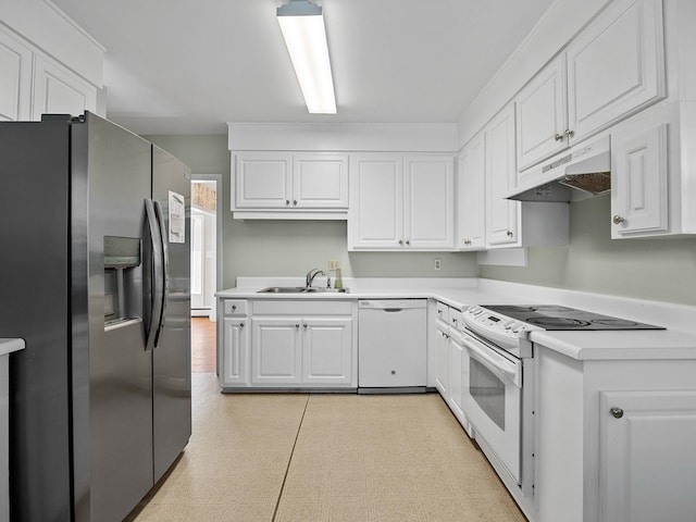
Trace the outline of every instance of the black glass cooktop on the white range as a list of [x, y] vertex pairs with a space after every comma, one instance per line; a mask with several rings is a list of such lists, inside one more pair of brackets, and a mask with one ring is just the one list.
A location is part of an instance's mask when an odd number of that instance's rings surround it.
[[557, 304], [484, 304], [483, 308], [544, 330], [664, 330], [662, 326]]

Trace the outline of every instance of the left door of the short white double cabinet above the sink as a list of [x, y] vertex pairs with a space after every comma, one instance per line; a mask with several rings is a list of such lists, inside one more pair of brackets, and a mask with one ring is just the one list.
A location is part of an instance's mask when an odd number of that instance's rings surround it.
[[293, 154], [238, 152], [235, 154], [235, 209], [289, 209], [293, 200]]

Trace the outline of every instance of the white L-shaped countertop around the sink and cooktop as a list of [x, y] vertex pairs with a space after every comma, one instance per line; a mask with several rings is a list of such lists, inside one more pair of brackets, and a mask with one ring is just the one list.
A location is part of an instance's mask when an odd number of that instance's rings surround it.
[[258, 294], [269, 286], [303, 285], [302, 278], [240, 277], [238, 287], [219, 291], [216, 296], [285, 300], [428, 298], [460, 310], [471, 304], [562, 304], [667, 330], [533, 332], [532, 341], [577, 360], [696, 359], [696, 307], [476, 277], [344, 278], [349, 293]]

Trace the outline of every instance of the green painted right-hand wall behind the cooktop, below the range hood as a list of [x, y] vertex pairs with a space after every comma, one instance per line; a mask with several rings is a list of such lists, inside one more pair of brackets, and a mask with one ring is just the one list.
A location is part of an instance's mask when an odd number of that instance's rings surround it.
[[[696, 304], [696, 239], [611, 239], [610, 198], [570, 209], [570, 245], [530, 248], [524, 268], [481, 266], [481, 276]], [[695, 318], [696, 319], [696, 318]]]

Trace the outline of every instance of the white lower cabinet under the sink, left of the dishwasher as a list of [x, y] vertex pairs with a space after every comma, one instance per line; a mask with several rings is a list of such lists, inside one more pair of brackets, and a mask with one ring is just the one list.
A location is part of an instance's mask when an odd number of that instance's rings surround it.
[[353, 302], [223, 300], [222, 308], [223, 390], [357, 387]]

